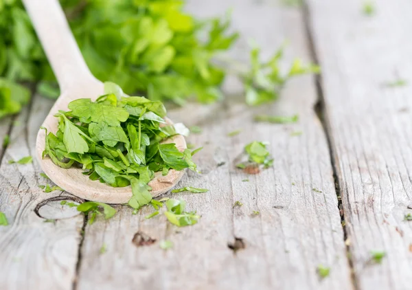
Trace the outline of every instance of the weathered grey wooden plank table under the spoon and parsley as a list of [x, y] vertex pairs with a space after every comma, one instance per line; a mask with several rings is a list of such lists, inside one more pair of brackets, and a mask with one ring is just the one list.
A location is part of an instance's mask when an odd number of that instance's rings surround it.
[[[263, 108], [244, 106], [241, 84], [228, 78], [224, 102], [170, 111], [203, 129], [188, 138], [204, 146], [196, 156], [203, 174], [188, 172], [179, 186], [209, 192], [174, 194], [201, 214], [191, 227], [163, 215], [146, 220], [150, 208], [133, 215], [122, 205], [113, 219], [89, 225], [60, 205], [70, 194], [38, 188], [47, 181], [37, 161], [8, 164], [34, 154], [52, 101], [34, 95], [19, 115], [1, 120], [0, 139], [10, 133], [11, 144], [0, 149], [0, 211], [10, 222], [0, 227], [0, 289], [412, 289], [412, 222], [404, 221], [412, 213], [412, 91], [382, 86], [412, 78], [412, 2], [375, 3], [376, 14], [365, 16], [357, 0], [308, 0], [305, 8], [191, 1], [188, 10], [202, 17], [233, 7], [238, 60], [248, 60], [250, 38], [266, 58], [287, 38], [285, 63], [301, 56], [322, 68], [321, 77], [293, 80]], [[298, 113], [299, 122], [254, 123], [258, 112]], [[275, 162], [246, 175], [233, 164], [253, 140], [271, 142]], [[157, 242], [138, 247], [137, 232]], [[159, 247], [164, 238], [173, 249]], [[234, 252], [228, 245], [236, 239], [245, 247]], [[386, 252], [382, 264], [371, 263], [372, 250]], [[318, 265], [330, 276], [319, 278]]]

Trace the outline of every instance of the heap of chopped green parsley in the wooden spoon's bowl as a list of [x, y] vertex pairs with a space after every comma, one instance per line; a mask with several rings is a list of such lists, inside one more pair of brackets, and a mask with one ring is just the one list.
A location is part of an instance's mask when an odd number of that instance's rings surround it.
[[81, 166], [90, 179], [108, 186], [131, 185], [128, 204], [136, 209], [152, 200], [148, 183], [155, 172], [197, 171], [192, 154], [198, 150], [181, 152], [175, 144], [161, 143], [187, 131], [183, 124], [166, 122], [162, 102], [128, 97], [113, 82], [104, 84], [104, 93], [95, 102], [74, 100], [70, 111], [56, 114], [58, 131], [46, 134], [43, 157], [62, 168]]

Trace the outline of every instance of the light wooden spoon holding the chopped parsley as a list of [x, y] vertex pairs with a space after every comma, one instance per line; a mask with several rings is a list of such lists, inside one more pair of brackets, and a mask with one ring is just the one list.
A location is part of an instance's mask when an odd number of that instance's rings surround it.
[[[58, 0], [23, 0], [23, 3], [60, 85], [61, 95], [43, 123], [47, 131], [56, 133], [58, 118], [54, 117], [54, 114], [58, 110], [68, 111], [67, 105], [72, 100], [95, 100], [103, 94], [103, 83], [91, 74], [84, 62]], [[170, 120], [168, 122], [172, 123]], [[164, 143], [175, 143], [179, 150], [187, 148], [185, 138], [181, 135], [171, 137]], [[82, 175], [79, 168], [64, 169], [56, 166], [48, 157], [42, 159], [44, 149], [45, 131], [40, 130], [36, 140], [36, 156], [41, 168], [54, 183], [67, 192], [82, 199], [104, 203], [127, 203], [132, 196], [130, 186], [113, 188], [99, 181], [91, 181], [89, 177]], [[156, 197], [173, 188], [184, 173], [184, 170], [169, 170], [168, 175], [162, 176], [161, 172], [157, 172], [155, 179], [149, 183], [152, 196]]]

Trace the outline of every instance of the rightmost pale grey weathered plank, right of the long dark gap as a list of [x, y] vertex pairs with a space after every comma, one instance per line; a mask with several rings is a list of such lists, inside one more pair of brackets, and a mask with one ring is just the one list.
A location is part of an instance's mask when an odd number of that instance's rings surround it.
[[[359, 289], [411, 289], [412, 2], [308, 1]], [[387, 253], [382, 265], [370, 251]]]

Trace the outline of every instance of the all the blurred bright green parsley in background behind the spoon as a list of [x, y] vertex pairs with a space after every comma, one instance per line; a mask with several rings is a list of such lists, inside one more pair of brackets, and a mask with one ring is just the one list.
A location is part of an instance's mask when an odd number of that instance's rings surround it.
[[[116, 82], [126, 93], [183, 105], [222, 98], [225, 70], [211, 62], [233, 45], [229, 16], [198, 21], [177, 0], [61, 0], [87, 65], [102, 81]], [[201, 41], [199, 34], [207, 32]], [[0, 0], [0, 118], [29, 99], [16, 82], [36, 82], [43, 96], [56, 98], [58, 86], [21, 1]], [[284, 82], [297, 74], [317, 72], [295, 60], [286, 76], [279, 73], [282, 49], [261, 65], [251, 52], [251, 71], [240, 74], [248, 104], [275, 100]], [[263, 73], [263, 71], [266, 71]], [[13, 93], [16, 89], [18, 93]]]

